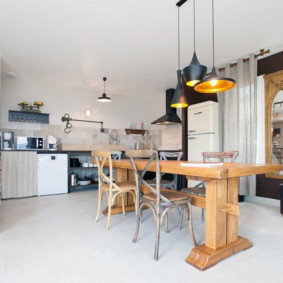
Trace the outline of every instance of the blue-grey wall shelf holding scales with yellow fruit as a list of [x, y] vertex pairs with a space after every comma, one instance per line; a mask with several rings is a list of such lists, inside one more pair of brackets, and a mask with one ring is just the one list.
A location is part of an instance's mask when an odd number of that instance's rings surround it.
[[49, 124], [49, 114], [9, 110], [8, 120], [10, 122]]

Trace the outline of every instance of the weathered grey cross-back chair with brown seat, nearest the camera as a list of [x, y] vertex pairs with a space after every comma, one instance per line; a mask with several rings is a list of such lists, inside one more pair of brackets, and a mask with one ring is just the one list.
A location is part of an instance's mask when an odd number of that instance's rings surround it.
[[[126, 151], [126, 156], [130, 158], [131, 165], [135, 172], [136, 185], [137, 185], [137, 217], [136, 217], [136, 231], [134, 235], [133, 242], [135, 243], [138, 238], [139, 227], [140, 227], [140, 217], [143, 207], [149, 207], [153, 213], [154, 223], [156, 227], [156, 237], [155, 237], [155, 251], [154, 259], [158, 260], [159, 254], [159, 238], [160, 238], [160, 227], [162, 226], [164, 218], [167, 216], [167, 213], [172, 208], [182, 207], [186, 210], [189, 219], [189, 233], [193, 244], [196, 246], [195, 237], [193, 234], [192, 220], [191, 220], [191, 198], [178, 191], [172, 191], [169, 189], [160, 189], [160, 167], [158, 153], [155, 150], [129, 150]], [[137, 158], [146, 158], [146, 166], [143, 171], [138, 171], [134, 159]], [[144, 175], [150, 166], [154, 162], [155, 171], [156, 171], [156, 182], [155, 188], [148, 184], [147, 180], [144, 180]], [[140, 190], [141, 185], [144, 185], [149, 193], [143, 193]], [[162, 208], [165, 207], [164, 210]]]

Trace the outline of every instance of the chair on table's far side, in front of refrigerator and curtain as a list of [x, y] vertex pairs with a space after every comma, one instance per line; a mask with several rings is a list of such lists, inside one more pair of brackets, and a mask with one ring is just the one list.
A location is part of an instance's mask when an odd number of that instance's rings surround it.
[[[202, 153], [203, 162], [230, 162], [234, 163], [239, 155], [239, 151], [206, 151]], [[195, 187], [185, 188], [182, 192], [188, 193], [189, 196], [194, 200], [204, 199], [206, 195], [205, 182], [200, 182]], [[182, 216], [181, 216], [182, 218]], [[202, 219], [204, 220], [204, 207], [202, 207]], [[182, 220], [180, 220], [180, 225]], [[179, 226], [181, 228], [181, 226]]]

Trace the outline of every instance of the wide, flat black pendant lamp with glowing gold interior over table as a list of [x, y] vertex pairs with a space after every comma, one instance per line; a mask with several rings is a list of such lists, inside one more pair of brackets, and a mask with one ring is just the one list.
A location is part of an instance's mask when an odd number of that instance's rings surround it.
[[219, 78], [214, 66], [214, 0], [212, 0], [212, 38], [213, 38], [213, 67], [209, 78], [195, 85], [194, 90], [201, 93], [217, 93], [233, 88], [236, 81], [231, 78]]

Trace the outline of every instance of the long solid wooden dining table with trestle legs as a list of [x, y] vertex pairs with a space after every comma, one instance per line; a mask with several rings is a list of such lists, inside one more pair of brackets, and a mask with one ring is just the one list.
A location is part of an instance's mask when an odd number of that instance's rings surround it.
[[[144, 169], [145, 160], [135, 162], [138, 170]], [[190, 166], [182, 166], [182, 163], [190, 163]], [[116, 170], [117, 182], [134, 180], [129, 160], [113, 160], [112, 165]], [[238, 235], [239, 178], [282, 169], [283, 166], [279, 164], [223, 163], [215, 167], [200, 162], [160, 161], [162, 173], [184, 175], [190, 180], [206, 182], [205, 242], [191, 250], [186, 262], [203, 271], [235, 253], [251, 248], [253, 244]], [[154, 164], [149, 166], [148, 171], [155, 171]], [[133, 200], [130, 198], [126, 210], [134, 210]], [[121, 203], [117, 200], [113, 214], [120, 212]]]

